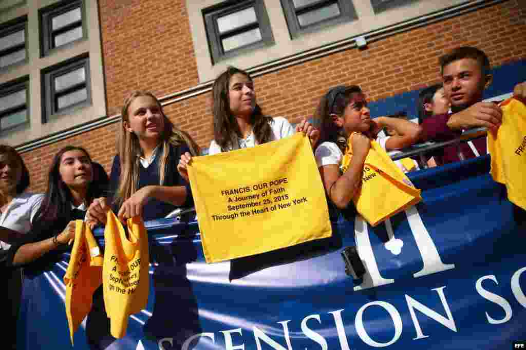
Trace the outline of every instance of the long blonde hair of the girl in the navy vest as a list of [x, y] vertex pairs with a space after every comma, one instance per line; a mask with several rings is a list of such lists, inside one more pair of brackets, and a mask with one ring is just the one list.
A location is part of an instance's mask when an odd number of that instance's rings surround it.
[[[199, 155], [199, 146], [186, 132], [179, 130], [176, 126], [167, 118], [163, 111], [159, 100], [149, 91], [136, 90], [132, 91], [128, 97], [124, 100], [123, 110], [120, 118], [120, 130], [118, 140], [118, 155], [120, 158], [120, 178], [117, 192], [114, 196], [114, 203], [119, 206], [124, 203], [131, 195], [137, 190], [137, 184], [139, 182], [139, 157], [143, 155], [143, 150], [140, 148], [139, 139], [137, 135], [132, 132], [128, 132], [125, 128], [124, 122], [129, 123], [128, 107], [137, 97], [149, 96], [153, 98], [159, 105], [161, 114], [164, 119], [164, 130], [160, 136], [160, 143], [162, 143], [161, 149], [163, 150], [159, 166], [159, 185], [163, 185], [165, 180], [166, 164], [168, 163], [170, 145], [181, 146], [186, 144], [190, 149], [190, 153], [194, 156]], [[170, 169], [174, 171], [174, 169]]]

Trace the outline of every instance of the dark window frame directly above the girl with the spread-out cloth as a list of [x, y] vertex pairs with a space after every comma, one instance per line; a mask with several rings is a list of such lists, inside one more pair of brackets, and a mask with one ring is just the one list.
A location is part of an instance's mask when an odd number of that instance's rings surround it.
[[[249, 7], [254, 7], [257, 22], [229, 30], [223, 34], [219, 33], [217, 18], [239, 12]], [[205, 29], [208, 39], [208, 46], [212, 57], [212, 64], [261, 47], [274, 45], [274, 35], [272, 35], [272, 30], [270, 28], [270, 20], [268, 18], [267, 9], [265, 8], [265, 4], [262, 0], [223, 2], [221, 4], [203, 9], [203, 19], [205, 21]], [[261, 40], [257, 41], [256, 43], [229, 50], [227, 52], [223, 50], [221, 44], [222, 39], [245, 33], [246, 31], [255, 28], [259, 28]]]

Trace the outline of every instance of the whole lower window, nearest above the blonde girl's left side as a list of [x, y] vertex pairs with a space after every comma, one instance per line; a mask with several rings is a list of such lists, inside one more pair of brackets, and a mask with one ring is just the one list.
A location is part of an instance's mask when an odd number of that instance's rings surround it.
[[53, 115], [90, 105], [89, 57], [74, 58], [47, 68], [42, 72], [42, 87], [43, 123]]

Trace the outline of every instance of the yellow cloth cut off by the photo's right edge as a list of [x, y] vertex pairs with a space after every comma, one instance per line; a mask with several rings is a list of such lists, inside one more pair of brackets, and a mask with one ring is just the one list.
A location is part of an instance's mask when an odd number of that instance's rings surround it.
[[508, 199], [526, 209], [526, 100], [517, 97], [501, 102], [502, 124], [488, 132], [490, 173], [506, 185]]

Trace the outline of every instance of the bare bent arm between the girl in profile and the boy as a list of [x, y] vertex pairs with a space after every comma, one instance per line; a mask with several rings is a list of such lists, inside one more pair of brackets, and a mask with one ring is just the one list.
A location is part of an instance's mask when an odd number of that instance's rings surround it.
[[401, 118], [380, 116], [373, 120], [381, 128], [390, 128], [397, 135], [389, 137], [386, 141], [386, 151], [393, 151], [409, 147], [417, 143], [422, 137], [422, 127], [417, 123]]

